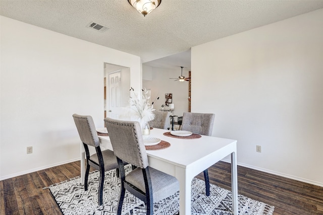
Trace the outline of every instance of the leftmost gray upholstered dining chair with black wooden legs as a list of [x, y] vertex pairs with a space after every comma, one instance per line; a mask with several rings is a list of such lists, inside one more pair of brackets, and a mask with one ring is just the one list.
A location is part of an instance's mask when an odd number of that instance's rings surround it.
[[[99, 190], [98, 190], [98, 204], [102, 205], [102, 194], [103, 194], [103, 184], [104, 184], [104, 172], [112, 169], [117, 169], [118, 162], [111, 150], [101, 151], [99, 146], [99, 138], [96, 133], [95, 125], [91, 116], [82, 116], [78, 114], [73, 114], [74, 122], [79, 132], [81, 141], [86, 154], [86, 172], [84, 180], [84, 189], [87, 190], [87, 181], [90, 171], [90, 166], [95, 170], [100, 172], [99, 178]], [[89, 146], [94, 147], [96, 153], [90, 156]], [[117, 169], [117, 175], [119, 175], [119, 170]]]

